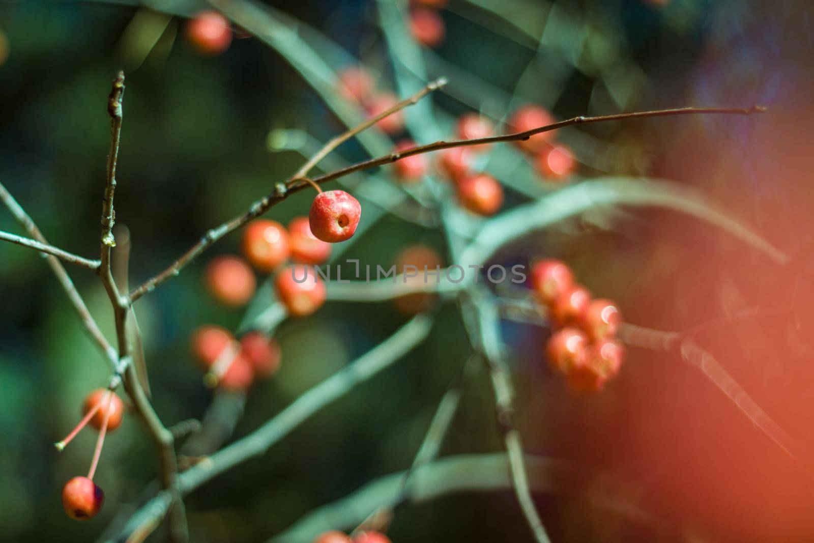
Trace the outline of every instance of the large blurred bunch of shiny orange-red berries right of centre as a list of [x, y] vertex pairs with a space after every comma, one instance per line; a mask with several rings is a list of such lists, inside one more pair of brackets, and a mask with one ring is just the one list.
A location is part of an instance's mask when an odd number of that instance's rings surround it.
[[545, 260], [532, 267], [532, 287], [549, 309], [554, 333], [545, 346], [552, 369], [577, 394], [598, 392], [619, 373], [624, 349], [616, 341], [622, 313], [610, 301], [593, 299], [563, 262]]

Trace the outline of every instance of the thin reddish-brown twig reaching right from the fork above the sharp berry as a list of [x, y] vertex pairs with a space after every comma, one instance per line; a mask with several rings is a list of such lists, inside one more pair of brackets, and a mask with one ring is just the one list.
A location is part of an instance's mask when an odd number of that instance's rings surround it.
[[651, 112], [633, 112], [633, 113], [617, 113], [615, 115], [603, 115], [594, 117], [578, 116], [567, 120], [561, 120], [553, 125], [540, 126], [535, 129], [526, 130], [525, 132], [516, 132], [513, 134], [503, 134], [501, 136], [491, 136], [489, 138], [475, 138], [475, 139], [462, 139], [453, 142], [435, 142], [428, 145], [412, 147], [404, 151], [392, 152], [389, 155], [379, 156], [370, 160], [363, 160], [357, 164], [351, 164], [347, 168], [337, 170], [332, 173], [326, 173], [319, 177], [314, 177], [313, 181], [317, 183], [324, 183], [333, 181], [339, 177], [344, 177], [349, 173], [358, 172], [363, 169], [375, 168], [383, 164], [389, 164], [396, 160], [403, 159], [406, 156], [421, 155], [431, 151], [442, 151], [451, 147], [466, 147], [470, 145], [480, 145], [482, 143], [499, 143], [499, 142], [519, 142], [531, 138], [535, 134], [549, 132], [551, 130], [561, 129], [571, 125], [586, 125], [589, 123], [606, 122], [610, 120], [624, 120], [624, 119], [637, 119], [640, 117], [658, 117], [658, 116], [674, 116], [674, 115], [698, 115], [698, 114], [724, 114], [724, 115], [751, 115], [753, 113], [765, 112], [766, 107], [752, 106], [752, 107], [681, 107], [676, 109], [659, 109]]

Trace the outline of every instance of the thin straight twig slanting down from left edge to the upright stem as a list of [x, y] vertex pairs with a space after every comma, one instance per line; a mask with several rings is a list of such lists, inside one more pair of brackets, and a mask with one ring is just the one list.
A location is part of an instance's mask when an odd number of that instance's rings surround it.
[[[37, 225], [34, 224], [31, 217], [28, 217], [28, 213], [26, 213], [20, 204], [17, 203], [17, 200], [15, 200], [9, 191], [6, 190], [6, 187], [3, 186], [2, 183], [0, 183], [0, 199], [2, 199], [2, 203], [5, 204], [11, 214], [33, 239], [37, 239], [37, 241], [40, 243], [48, 243], [48, 240], [44, 235], [42, 235], [42, 232], [39, 228], [37, 228]], [[82, 300], [79, 291], [77, 291], [77, 287], [74, 286], [71, 277], [68, 275], [68, 271], [62, 265], [62, 262], [60, 262], [55, 256], [46, 256], [46, 260], [56, 275], [59, 284], [62, 285], [63, 291], [68, 294], [68, 299], [71, 300], [73, 309], [75, 309], [77, 311], [77, 315], [79, 315], [82, 328], [90, 336], [90, 338], [94, 340], [94, 343], [97, 344], [102, 350], [102, 353], [105, 355], [105, 357], [107, 357], [107, 360], [115, 370], [119, 358], [116, 355], [116, 349], [114, 349], [112, 345], [108, 343], [102, 331], [99, 330], [96, 321], [94, 321], [94, 317], [90, 315], [90, 311], [85, 305], [85, 300]]]

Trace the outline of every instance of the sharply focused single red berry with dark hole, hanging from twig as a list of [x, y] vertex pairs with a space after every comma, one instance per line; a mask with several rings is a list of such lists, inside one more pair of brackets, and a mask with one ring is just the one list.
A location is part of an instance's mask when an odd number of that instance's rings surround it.
[[350, 239], [356, 232], [359, 217], [359, 200], [344, 190], [327, 190], [313, 199], [308, 220], [311, 232], [317, 239], [337, 243]]

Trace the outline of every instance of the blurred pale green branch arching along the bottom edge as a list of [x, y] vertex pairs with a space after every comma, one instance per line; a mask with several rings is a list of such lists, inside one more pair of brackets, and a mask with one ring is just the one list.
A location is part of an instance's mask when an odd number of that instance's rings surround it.
[[[628, 485], [613, 475], [586, 469], [570, 462], [526, 455], [531, 489], [535, 493], [579, 497], [593, 506], [610, 510], [640, 523], [654, 519], [632, 503]], [[377, 506], [396, 506], [407, 471], [372, 480], [350, 495], [319, 507], [297, 520], [269, 543], [308, 543], [322, 532], [352, 528]], [[441, 458], [414, 472], [410, 502], [426, 503], [449, 494], [505, 491], [512, 486], [505, 453], [461, 454]]]

